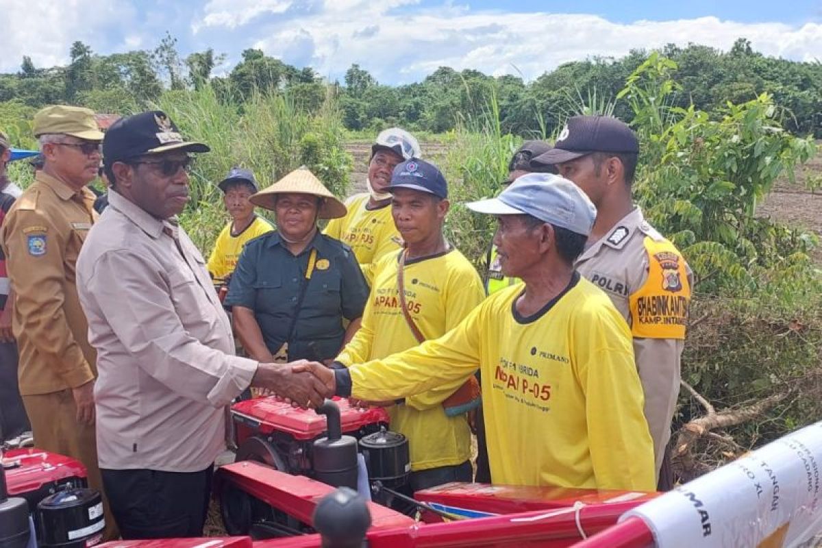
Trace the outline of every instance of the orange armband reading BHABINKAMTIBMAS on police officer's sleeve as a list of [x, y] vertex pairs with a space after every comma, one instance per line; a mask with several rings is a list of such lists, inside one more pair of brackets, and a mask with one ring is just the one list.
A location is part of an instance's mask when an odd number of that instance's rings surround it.
[[630, 296], [631, 332], [640, 338], [685, 338], [690, 283], [685, 259], [671, 242], [644, 239], [648, 279]]

